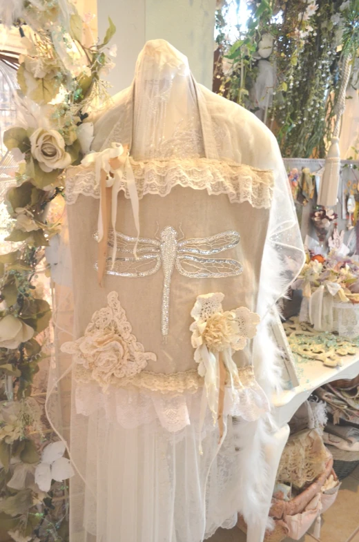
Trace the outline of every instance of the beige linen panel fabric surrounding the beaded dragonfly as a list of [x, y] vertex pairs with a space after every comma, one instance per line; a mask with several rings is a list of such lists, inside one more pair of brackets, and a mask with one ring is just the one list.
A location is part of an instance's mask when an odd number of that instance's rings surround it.
[[[68, 206], [70, 249], [73, 264], [75, 296], [75, 338], [84, 334], [93, 313], [106, 307], [110, 291], [119, 293], [137, 340], [145, 351], [154, 352], [157, 361], [146, 370], [171, 374], [197, 367], [193, 360], [191, 309], [198, 295], [222, 292], [224, 310], [240, 306], [255, 311], [260, 278], [260, 266], [269, 220], [269, 209], [253, 209], [248, 203], [231, 204], [227, 195], [208, 195], [203, 190], [175, 186], [166, 197], [145, 195], [139, 202], [140, 236], [159, 238], [166, 226], [173, 226], [179, 239], [203, 238], [234, 230], [240, 233], [240, 243], [233, 249], [208, 258], [231, 258], [242, 264], [243, 272], [230, 278], [188, 278], [174, 269], [171, 281], [169, 331], [166, 344], [161, 333], [162, 268], [157, 273], [139, 278], [104, 275], [103, 287], [97, 283], [97, 229], [99, 200], [79, 195]], [[130, 200], [119, 194], [117, 231], [136, 235]], [[111, 249], [108, 251], [110, 255]], [[206, 256], [204, 256], [206, 258]], [[251, 347], [234, 356], [237, 365], [251, 362]]]

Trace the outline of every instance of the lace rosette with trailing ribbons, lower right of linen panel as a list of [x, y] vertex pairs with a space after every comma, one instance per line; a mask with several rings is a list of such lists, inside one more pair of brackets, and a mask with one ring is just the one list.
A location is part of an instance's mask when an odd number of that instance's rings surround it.
[[[242, 350], [255, 336], [260, 322], [258, 314], [246, 307], [223, 311], [223, 293], [208, 293], [197, 297], [191, 316], [192, 346], [198, 373], [204, 378], [203, 398], [218, 420], [223, 432], [225, 401], [233, 403], [237, 415], [247, 420], [258, 418], [269, 410], [269, 402], [256, 382], [253, 367], [238, 369], [232, 355]], [[226, 390], [229, 387], [229, 390]], [[227, 393], [226, 393], [227, 391]]]

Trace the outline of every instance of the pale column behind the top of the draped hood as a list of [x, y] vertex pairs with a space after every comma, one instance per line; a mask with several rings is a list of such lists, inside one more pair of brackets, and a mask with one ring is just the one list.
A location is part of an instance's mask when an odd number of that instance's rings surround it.
[[99, 37], [111, 17], [117, 32], [112, 94], [133, 79], [135, 61], [148, 39], [166, 39], [188, 57], [195, 79], [212, 88], [215, 0], [97, 0]]

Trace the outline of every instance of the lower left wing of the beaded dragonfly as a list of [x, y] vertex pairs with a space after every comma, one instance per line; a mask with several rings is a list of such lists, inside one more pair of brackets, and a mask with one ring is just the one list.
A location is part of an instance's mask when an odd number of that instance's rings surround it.
[[[147, 277], [153, 275], [161, 267], [159, 254], [146, 254], [138, 258], [116, 258], [112, 264], [112, 258], [106, 258], [106, 274], [119, 277]], [[97, 262], [95, 269], [98, 269]]]

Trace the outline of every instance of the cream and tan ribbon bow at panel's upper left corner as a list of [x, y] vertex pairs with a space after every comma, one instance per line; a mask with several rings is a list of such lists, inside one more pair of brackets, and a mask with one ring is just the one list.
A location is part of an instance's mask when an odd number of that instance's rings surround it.
[[[95, 166], [95, 181], [100, 190], [100, 205], [98, 218], [98, 242], [99, 242], [99, 282], [101, 282], [106, 267], [107, 238], [108, 238], [108, 203], [110, 201], [111, 226], [115, 233], [117, 219], [117, 195], [122, 180], [125, 180], [130, 195], [130, 202], [133, 211], [133, 219], [137, 230], [137, 242], [139, 238], [139, 197], [137, 194], [135, 175], [130, 164], [128, 145], [122, 146], [119, 143], [112, 143], [99, 153], [90, 153], [82, 159], [81, 164], [85, 167]], [[110, 193], [108, 188], [112, 188]], [[109, 197], [108, 197], [109, 195]], [[136, 257], [137, 242], [134, 254]], [[117, 251], [117, 237], [113, 236], [112, 268], [115, 264]]]

